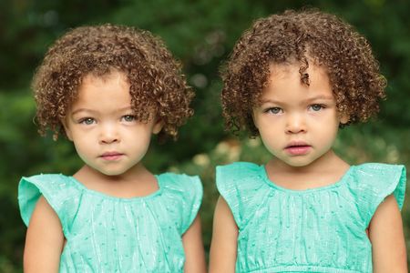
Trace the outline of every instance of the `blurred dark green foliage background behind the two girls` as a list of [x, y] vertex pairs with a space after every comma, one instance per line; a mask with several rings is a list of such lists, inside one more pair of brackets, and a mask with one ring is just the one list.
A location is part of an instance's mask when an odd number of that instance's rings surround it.
[[[153, 140], [145, 162], [154, 173], [200, 175], [201, 207], [208, 253], [218, 197], [214, 167], [236, 160], [264, 163], [269, 154], [259, 139], [223, 131], [220, 116], [221, 61], [251, 22], [305, 5], [340, 15], [364, 34], [388, 80], [387, 100], [377, 121], [341, 131], [335, 149], [351, 164], [402, 163], [410, 168], [410, 2], [406, 0], [1, 0], [0, 1], [0, 272], [21, 272], [26, 227], [17, 207], [17, 184], [38, 173], [73, 174], [81, 162], [66, 139], [40, 137], [33, 122], [30, 80], [46, 48], [78, 25], [134, 25], [160, 35], [196, 90], [195, 116], [179, 141]], [[408, 173], [407, 173], [407, 177]], [[410, 249], [410, 205], [403, 210]]]

